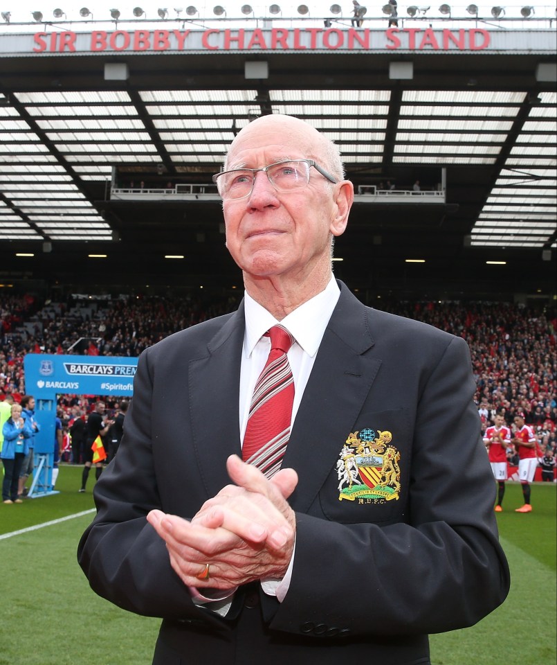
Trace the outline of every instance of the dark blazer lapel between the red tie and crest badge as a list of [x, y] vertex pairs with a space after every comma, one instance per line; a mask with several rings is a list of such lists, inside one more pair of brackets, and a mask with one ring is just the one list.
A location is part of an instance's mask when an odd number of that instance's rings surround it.
[[334, 468], [381, 366], [363, 355], [374, 344], [368, 310], [341, 286], [282, 463], [298, 472], [290, 499], [298, 511], [307, 511]]

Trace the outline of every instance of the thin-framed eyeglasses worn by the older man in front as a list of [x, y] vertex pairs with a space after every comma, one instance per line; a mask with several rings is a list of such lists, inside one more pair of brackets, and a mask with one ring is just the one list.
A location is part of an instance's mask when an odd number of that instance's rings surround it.
[[277, 192], [291, 192], [307, 187], [311, 166], [315, 167], [327, 180], [338, 182], [313, 159], [277, 161], [262, 168], [232, 168], [230, 171], [217, 173], [212, 177], [212, 181], [217, 184], [219, 194], [223, 199], [243, 199], [253, 190], [255, 174], [258, 171], [264, 171]]

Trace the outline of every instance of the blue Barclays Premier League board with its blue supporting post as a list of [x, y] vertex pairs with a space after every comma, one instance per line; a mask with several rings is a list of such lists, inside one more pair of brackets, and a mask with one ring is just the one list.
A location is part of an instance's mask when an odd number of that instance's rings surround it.
[[129, 397], [134, 390], [136, 357], [46, 355], [28, 353], [24, 371], [28, 392], [35, 397], [41, 429], [35, 436], [35, 472], [29, 496], [53, 494], [57, 396], [113, 395]]

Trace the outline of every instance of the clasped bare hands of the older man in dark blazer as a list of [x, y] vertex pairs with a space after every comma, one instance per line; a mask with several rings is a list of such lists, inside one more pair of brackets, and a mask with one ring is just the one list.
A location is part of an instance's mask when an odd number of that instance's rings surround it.
[[[234, 485], [209, 499], [191, 521], [151, 511], [147, 521], [166, 543], [172, 568], [190, 587], [232, 589], [253, 580], [282, 578], [295, 540], [295, 516], [286, 499], [298, 484], [293, 469], [268, 480], [232, 455]], [[210, 564], [207, 580], [197, 577]]]

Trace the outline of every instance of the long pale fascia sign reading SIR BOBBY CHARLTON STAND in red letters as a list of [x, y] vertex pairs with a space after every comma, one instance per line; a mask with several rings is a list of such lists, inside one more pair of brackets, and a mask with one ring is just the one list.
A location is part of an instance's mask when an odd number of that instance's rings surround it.
[[484, 28], [210, 28], [207, 30], [73, 30], [0, 35], [0, 56], [107, 53], [554, 53], [553, 30]]

